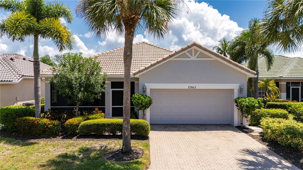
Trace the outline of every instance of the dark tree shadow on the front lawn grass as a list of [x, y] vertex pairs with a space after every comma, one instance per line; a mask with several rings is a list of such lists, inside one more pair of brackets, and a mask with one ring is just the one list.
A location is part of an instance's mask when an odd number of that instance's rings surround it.
[[108, 146], [81, 147], [72, 152], [65, 152], [57, 155], [54, 159], [49, 159], [45, 164], [40, 165], [44, 169], [140, 169], [144, 162], [135, 160], [132, 162], [110, 162], [103, 158], [103, 155], [111, 149]]

